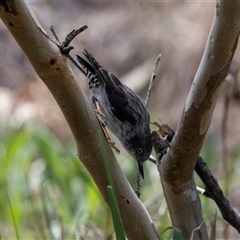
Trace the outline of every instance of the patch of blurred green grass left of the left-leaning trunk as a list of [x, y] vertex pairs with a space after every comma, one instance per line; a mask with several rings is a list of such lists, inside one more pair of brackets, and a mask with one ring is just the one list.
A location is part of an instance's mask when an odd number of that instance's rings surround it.
[[0, 138], [3, 239], [77, 238], [104, 229], [109, 212], [76, 150], [66, 147], [73, 142], [62, 144], [48, 129], [29, 123], [4, 126]]

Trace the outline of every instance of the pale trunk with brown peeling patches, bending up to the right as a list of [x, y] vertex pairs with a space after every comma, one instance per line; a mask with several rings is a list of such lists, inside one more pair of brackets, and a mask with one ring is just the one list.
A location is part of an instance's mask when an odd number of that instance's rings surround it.
[[[203, 221], [193, 171], [237, 47], [239, 27], [240, 2], [217, 2], [216, 16], [181, 121], [159, 167], [170, 216], [173, 225], [183, 231], [183, 239], [190, 239], [192, 230]], [[205, 224], [194, 239], [208, 239]]]

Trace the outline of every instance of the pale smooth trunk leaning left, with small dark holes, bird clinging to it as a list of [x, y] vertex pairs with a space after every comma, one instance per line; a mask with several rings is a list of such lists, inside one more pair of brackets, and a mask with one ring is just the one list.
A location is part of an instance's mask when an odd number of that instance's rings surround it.
[[67, 57], [46, 35], [24, 1], [1, 0], [0, 17], [54, 96], [74, 135], [80, 160], [109, 203], [109, 183], [101, 151], [105, 148], [128, 239], [136, 239], [136, 236], [142, 240], [159, 239], [146, 209], [133, 192], [103, 137], [93, 109], [67, 64]]

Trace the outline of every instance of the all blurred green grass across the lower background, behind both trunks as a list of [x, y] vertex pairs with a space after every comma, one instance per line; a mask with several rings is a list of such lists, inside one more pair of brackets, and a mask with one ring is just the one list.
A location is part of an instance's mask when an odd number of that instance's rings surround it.
[[[7, 123], [0, 126], [0, 239], [109, 239], [113, 236], [117, 231], [112, 223], [113, 211], [118, 216], [114, 190], [110, 187], [111, 212], [77, 158], [71, 136], [61, 142], [49, 129], [33, 122], [20, 127]], [[206, 144], [202, 153], [211, 168], [217, 150], [209, 145]], [[238, 158], [236, 145], [231, 154], [235, 169], [239, 169]], [[134, 188], [136, 162], [121, 159], [119, 163]], [[141, 200], [161, 233], [171, 223], [158, 172], [152, 163], [146, 163], [144, 170]], [[229, 178], [232, 188], [236, 187], [237, 176], [234, 173]], [[197, 183], [203, 187], [199, 179]], [[161, 197], [156, 197], [158, 194]], [[209, 229], [216, 205], [205, 197], [201, 201]], [[218, 211], [218, 223], [222, 222]]]

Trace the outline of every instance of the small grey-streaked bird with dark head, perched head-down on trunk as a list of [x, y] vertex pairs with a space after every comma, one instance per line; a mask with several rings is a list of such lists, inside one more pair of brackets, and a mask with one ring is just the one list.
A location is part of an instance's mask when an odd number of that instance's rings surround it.
[[[84, 57], [76, 57], [87, 77], [91, 103], [99, 113], [98, 118], [137, 160], [139, 173], [144, 179], [143, 162], [152, 151], [150, 117], [145, 104], [86, 49], [83, 54]], [[96, 109], [98, 105], [100, 110]]]

